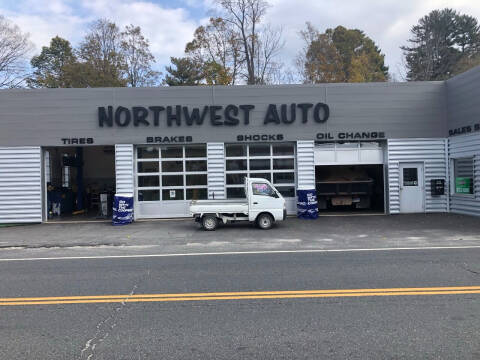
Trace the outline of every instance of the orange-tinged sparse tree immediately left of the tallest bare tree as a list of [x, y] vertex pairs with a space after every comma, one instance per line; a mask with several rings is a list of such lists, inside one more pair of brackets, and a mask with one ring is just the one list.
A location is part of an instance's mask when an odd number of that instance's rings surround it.
[[210, 18], [206, 26], [198, 27], [185, 54], [204, 64], [207, 83], [235, 85], [243, 60], [238, 36], [224, 19]]

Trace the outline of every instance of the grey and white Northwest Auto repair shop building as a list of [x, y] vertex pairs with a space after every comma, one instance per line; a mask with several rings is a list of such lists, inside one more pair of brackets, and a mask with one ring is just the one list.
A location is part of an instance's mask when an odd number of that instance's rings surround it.
[[184, 217], [191, 199], [242, 197], [246, 175], [292, 214], [296, 189], [345, 171], [373, 179], [369, 211], [480, 215], [480, 67], [437, 82], [0, 91], [0, 223], [47, 221], [55, 191], [70, 212], [117, 192], [136, 219]]

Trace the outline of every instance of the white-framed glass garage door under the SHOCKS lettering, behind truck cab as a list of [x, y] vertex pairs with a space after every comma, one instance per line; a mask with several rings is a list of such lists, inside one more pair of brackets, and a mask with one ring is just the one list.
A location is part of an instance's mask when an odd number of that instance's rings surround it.
[[272, 182], [284, 197], [295, 197], [295, 144], [226, 144], [227, 198], [244, 198], [243, 179]]

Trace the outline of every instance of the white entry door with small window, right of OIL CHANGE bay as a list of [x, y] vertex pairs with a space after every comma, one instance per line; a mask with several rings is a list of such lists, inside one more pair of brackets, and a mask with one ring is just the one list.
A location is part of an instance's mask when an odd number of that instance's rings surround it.
[[400, 163], [400, 212], [425, 211], [422, 163]]

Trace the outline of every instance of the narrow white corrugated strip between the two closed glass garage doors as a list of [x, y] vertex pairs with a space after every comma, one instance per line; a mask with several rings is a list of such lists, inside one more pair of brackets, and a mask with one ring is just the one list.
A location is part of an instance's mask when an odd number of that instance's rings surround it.
[[208, 198], [225, 199], [224, 143], [207, 143], [207, 170]]

